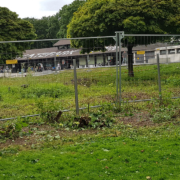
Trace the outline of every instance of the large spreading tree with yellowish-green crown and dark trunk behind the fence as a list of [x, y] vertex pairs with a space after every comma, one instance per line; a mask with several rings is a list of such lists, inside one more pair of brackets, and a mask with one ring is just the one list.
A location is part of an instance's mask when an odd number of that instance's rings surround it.
[[[180, 32], [180, 0], [90, 0], [74, 13], [68, 25], [67, 35], [72, 37], [108, 36], [115, 31], [126, 34], [176, 34]], [[149, 43], [152, 43], [152, 39]], [[133, 77], [134, 42], [141, 44], [136, 37], [127, 37], [123, 45], [128, 49], [128, 75]], [[97, 50], [96, 44], [109, 45], [112, 41], [103, 43], [102, 39], [89, 42], [82, 53]], [[82, 40], [73, 40], [71, 45], [76, 48], [85, 47]]]

